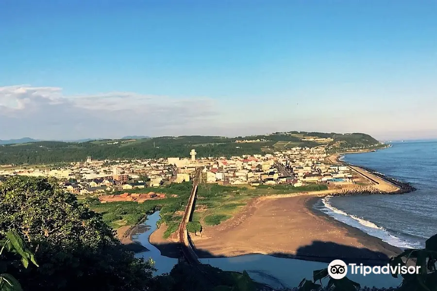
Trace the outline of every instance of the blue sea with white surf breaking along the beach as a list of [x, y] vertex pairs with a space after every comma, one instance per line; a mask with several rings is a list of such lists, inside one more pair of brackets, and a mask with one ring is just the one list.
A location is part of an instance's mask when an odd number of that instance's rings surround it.
[[400, 195], [327, 197], [315, 208], [401, 248], [421, 248], [437, 233], [437, 141], [392, 143], [343, 161], [409, 182], [417, 191]]

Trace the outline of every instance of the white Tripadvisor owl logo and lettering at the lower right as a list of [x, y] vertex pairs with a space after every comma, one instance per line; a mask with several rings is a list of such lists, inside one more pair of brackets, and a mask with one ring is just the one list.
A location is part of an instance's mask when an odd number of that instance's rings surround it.
[[[401, 266], [387, 264], [385, 266], [364, 266], [363, 264], [349, 264], [351, 274], [369, 275], [369, 274], [420, 274], [420, 266]], [[348, 265], [341, 259], [335, 259], [328, 265], [328, 274], [333, 279], [344, 278], [348, 274]]]

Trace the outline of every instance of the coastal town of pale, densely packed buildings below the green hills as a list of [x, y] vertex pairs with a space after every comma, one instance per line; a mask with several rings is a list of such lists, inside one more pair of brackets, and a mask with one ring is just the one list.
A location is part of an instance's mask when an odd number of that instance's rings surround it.
[[365, 182], [363, 176], [346, 165], [327, 160], [324, 147], [295, 147], [265, 155], [240, 157], [196, 158], [195, 150], [187, 153], [190, 158], [147, 160], [73, 162], [64, 167], [0, 168], [0, 177], [10, 176], [51, 177], [58, 179], [67, 191], [77, 195], [99, 195], [102, 202], [163, 198], [159, 193], [142, 195], [120, 194], [125, 190], [159, 187], [168, 183], [181, 183], [193, 179], [196, 168], [202, 168], [201, 182], [219, 185], [276, 185], [294, 187], [321, 183], [331, 188], [350, 187]]

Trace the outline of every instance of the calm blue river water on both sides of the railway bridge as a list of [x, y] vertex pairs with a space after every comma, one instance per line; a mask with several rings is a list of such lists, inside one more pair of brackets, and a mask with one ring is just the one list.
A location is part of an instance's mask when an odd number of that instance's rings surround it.
[[[135, 257], [153, 259], [157, 272], [154, 275], [169, 273], [178, 259], [168, 258], [161, 255], [161, 252], [149, 242], [149, 237], [156, 230], [156, 223], [159, 220], [159, 211], [149, 215], [146, 222], [140, 229], [142, 233], [135, 234], [134, 242], [141, 243], [149, 249], [147, 252], [135, 254]], [[304, 261], [299, 259], [277, 258], [269, 255], [252, 254], [229, 258], [200, 259], [204, 264], [210, 264], [224, 271], [243, 272], [246, 271], [253, 280], [267, 284], [273, 288], [297, 287], [303, 278], [311, 279], [314, 270], [324, 269], [327, 263]], [[398, 287], [400, 279], [391, 275], [348, 275], [348, 278], [364, 286], [377, 286], [380, 288]], [[326, 285], [325, 281], [322, 281]]]

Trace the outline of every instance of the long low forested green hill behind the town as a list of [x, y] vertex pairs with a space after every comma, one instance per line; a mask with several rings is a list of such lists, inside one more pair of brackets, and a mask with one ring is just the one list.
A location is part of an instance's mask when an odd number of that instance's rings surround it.
[[[320, 140], [325, 139], [325, 140]], [[336, 150], [369, 147], [379, 142], [364, 133], [276, 132], [246, 137], [178, 136], [144, 139], [96, 140], [82, 143], [41, 141], [0, 146], [0, 164], [42, 164], [95, 160], [198, 157], [263, 154], [295, 146], [328, 145]]]

